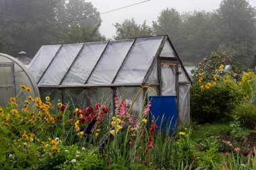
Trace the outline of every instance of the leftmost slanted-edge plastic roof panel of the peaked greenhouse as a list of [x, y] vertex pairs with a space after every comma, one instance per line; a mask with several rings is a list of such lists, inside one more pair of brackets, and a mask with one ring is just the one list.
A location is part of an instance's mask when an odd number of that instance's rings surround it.
[[38, 82], [46, 68], [49, 66], [60, 47], [61, 45], [59, 44], [42, 46], [36, 56], [34, 56], [34, 59], [30, 62], [30, 65], [28, 65], [28, 69], [34, 76], [36, 82]]

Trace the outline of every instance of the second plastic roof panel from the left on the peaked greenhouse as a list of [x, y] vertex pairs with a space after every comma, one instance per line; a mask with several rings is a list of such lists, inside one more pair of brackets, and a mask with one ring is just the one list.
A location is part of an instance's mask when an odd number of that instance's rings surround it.
[[39, 85], [59, 85], [83, 44], [65, 44], [46, 70]]

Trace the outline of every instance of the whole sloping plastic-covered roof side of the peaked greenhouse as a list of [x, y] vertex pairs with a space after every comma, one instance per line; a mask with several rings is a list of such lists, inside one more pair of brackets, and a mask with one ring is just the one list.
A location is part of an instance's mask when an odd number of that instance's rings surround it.
[[166, 38], [44, 45], [28, 68], [39, 87], [141, 85]]

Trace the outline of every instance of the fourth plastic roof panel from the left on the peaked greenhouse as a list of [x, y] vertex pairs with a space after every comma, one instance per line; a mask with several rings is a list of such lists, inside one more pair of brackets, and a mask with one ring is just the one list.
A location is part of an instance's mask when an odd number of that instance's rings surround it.
[[132, 44], [133, 40], [109, 42], [88, 84], [102, 85], [112, 83]]

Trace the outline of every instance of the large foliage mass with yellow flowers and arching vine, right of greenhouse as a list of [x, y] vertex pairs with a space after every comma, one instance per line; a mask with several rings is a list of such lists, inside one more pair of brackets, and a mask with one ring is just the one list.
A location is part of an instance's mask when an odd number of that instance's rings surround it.
[[193, 78], [191, 115], [202, 123], [230, 119], [235, 106], [251, 98], [255, 74], [243, 72], [230, 56], [216, 52], [196, 67]]

